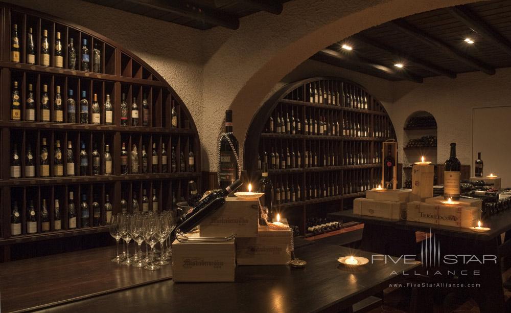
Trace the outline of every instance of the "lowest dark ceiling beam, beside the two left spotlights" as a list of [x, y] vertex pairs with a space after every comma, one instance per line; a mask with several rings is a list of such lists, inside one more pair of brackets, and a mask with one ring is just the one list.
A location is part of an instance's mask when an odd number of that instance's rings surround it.
[[[388, 76], [391, 76], [396, 79], [409, 80], [409, 81], [413, 81], [416, 83], [423, 82], [422, 77], [417, 76], [412, 73], [409, 73], [406, 70], [402, 70], [402, 71], [394, 70], [394, 69], [390, 68], [389, 66], [375, 63], [368, 59], [355, 56], [351, 53], [346, 53], [346, 54], [340, 53], [333, 49], [320, 50], [311, 58], [314, 60], [317, 60], [317, 61], [321, 61], [321, 62], [326, 61], [326, 63], [329, 63], [329, 64], [333, 63], [332, 65], [341, 66], [341, 67], [345, 67], [345, 65], [357, 66], [358, 68], [369, 70], [369, 72], [364, 72], [364, 74], [377, 76], [377, 77], [387, 76], [387, 78], [385, 78], [385, 79], [388, 79]], [[373, 71], [376, 71], [376, 73], [380, 72], [383, 75], [381, 75], [381, 76], [375, 75], [375, 73], [371, 73]]]

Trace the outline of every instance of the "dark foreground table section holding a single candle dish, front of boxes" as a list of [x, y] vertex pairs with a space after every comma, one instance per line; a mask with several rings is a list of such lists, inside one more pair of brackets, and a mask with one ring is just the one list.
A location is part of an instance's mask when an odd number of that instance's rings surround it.
[[308, 262], [305, 269], [286, 265], [237, 266], [234, 283], [174, 283], [102, 295], [49, 308], [45, 312], [316, 312], [339, 310], [374, 295], [401, 279], [420, 262], [383, 261], [347, 269], [337, 259], [345, 255], [369, 258], [370, 253], [314, 243], [296, 250]]

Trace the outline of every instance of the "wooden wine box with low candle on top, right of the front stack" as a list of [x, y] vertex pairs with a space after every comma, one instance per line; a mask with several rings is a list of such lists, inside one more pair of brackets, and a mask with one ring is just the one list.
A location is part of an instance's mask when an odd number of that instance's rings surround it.
[[257, 237], [236, 238], [238, 265], [286, 265], [291, 261], [291, 249], [290, 229], [259, 226]]

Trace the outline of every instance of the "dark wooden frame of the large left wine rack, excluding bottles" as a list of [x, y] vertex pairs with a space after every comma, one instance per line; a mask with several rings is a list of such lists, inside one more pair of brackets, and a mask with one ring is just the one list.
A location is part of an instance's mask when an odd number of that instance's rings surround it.
[[[147, 190], [150, 207], [152, 205], [152, 189], [157, 190], [159, 210], [169, 209], [172, 204], [172, 194], [180, 200], [181, 195], [188, 194], [188, 181], [193, 178], [200, 180], [200, 143], [195, 123], [182, 100], [172, 89], [172, 87], [154, 71], [143, 60], [136, 57], [129, 51], [123, 49], [118, 43], [86, 28], [68, 23], [59, 18], [35, 12], [26, 8], [21, 8], [9, 4], [0, 3], [0, 14], [3, 24], [1, 25], [3, 33], [3, 48], [0, 53], [0, 85], [2, 87], [2, 109], [0, 110], [0, 141], [2, 142], [2, 170], [0, 172], [1, 192], [1, 214], [0, 214], [0, 247], [4, 246], [3, 258], [9, 259], [9, 245], [23, 243], [28, 241], [37, 241], [43, 239], [61, 238], [81, 234], [107, 232], [108, 226], [105, 226], [105, 212], [103, 204], [105, 195], [109, 194], [110, 202], [113, 206], [113, 213], [120, 211], [120, 201], [123, 196], [128, 207], [131, 206], [133, 193], [137, 194], [142, 209], [142, 191]], [[11, 62], [10, 60], [10, 40], [12, 25], [17, 24], [20, 39], [20, 62]], [[27, 64], [26, 41], [28, 29], [32, 28], [34, 35], [34, 45], [36, 48], [35, 64]], [[50, 64], [53, 65], [53, 51], [56, 33], [60, 32], [63, 50], [63, 68], [54, 68], [52, 66], [41, 66], [39, 60], [39, 51], [41, 47], [41, 35], [43, 30], [48, 30], [48, 41], [50, 43]], [[69, 40], [73, 38], [75, 50], [77, 52], [77, 69], [68, 70], [67, 47]], [[87, 39], [89, 53], [92, 55], [92, 49], [97, 44], [101, 51], [101, 73], [92, 73], [81, 71], [80, 68], [80, 49], [82, 39]], [[91, 58], [92, 63], [92, 58]], [[92, 69], [92, 66], [90, 66]], [[18, 81], [21, 103], [21, 121], [10, 120], [11, 93], [13, 81]], [[40, 97], [42, 85], [48, 85], [48, 95], [50, 98], [50, 116], [53, 117], [53, 99], [56, 93], [56, 86], [61, 88], [63, 105], [63, 123], [54, 122], [29, 122], [25, 121], [25, 100], [27, 99], [28, 84], [33, 85], [34, 101], [36, 103], [36, 121], [39, 118]], [[101, 124], [78, 124], [67, 122], [68, 90], [73, 90], [73, 98], [77, 106], [77, 122], [79, 122], [79, 101], [81, 91], [86, 91], [86, 97], [89, 102], [89, 113], [91, 111], [91, 102], [93, 94], [98, 95], [98, 101], [101, 107]], [[149, 125], [146, 126], [121, 126], [121, 95], [126, 94], [128, 105], [128, 125], [131, 125], [131, 99], [136, 98], [139, 110], [142, 113], [143, 94], [147, 95], [149, 103]], [[110, 101], [113, 107], [113, 124], [105, 125], [103, 104], [106, 95], [110, 95]], [[178, 125], [172, 127], [172, 105], [175, 105]], [[90, 116], [90, 114], [89, 114]], [[89, 121], [90, 123], [90, 121]], [[140, 118], [139, 125], [142, 125]], [[48, 150], [50, 156], [50, 177], [39, 176], [39, 153], [41, 139], [48, 141]], [[56, 141], [59, 140], [63, 154], [64, 176], [53, 176], [53, 155]], [[76, 176], [66, 176], [67, 160], [65, 151], [67, 142], [71, 141], [75, 157]], [[80, 175], [79, 172], [79, 152], [80, 143], [84, 142], [88, 154], [89, 168], [92, 165], [92, 146], [97, 144], [98, 152], [101, 158], [100, 175], [92, 175], [91, 172], [86, 175]], [[129, 157], [132, 144], [138, 148], [139, 173], [121, 175], [120, 154], [122, 143], [126, 143], [128, 152], [128, 169], [131, 169], [131, 158]], [[35, 159], [36, 176], [25, 176], [25, 155], [27, 144], [30, 143], [32, 153]], [[151, 152], [152, 145], [156, 144], [158, 154], [158, 167], [155, 172], [151, 172]], [[21, 178], [10, 178], [9, 165], [13, 145], [17, 144], [18, 154], [21, 159]], [[105, 145], [110, 146], [112, 156], [112, 174], [104, 175], [103, 153]], [[167, 173], [161, 172], [161, 149], [165, 144], [168, 159]], [[142, 174], [142, 145], [145, 145], [148, 153], [147, 174]], [[175, 148], [176, 154], [176, 172], [171, 172], [171, 147]], [[184, 153], [185, 167], [180, 171], [180, 153]], [[188, 160], [189, 152], [193, 151], [195, 159], [195, 168], [190, 170]], [[200, 185], [199, 185], [200, 186]], [[67, 204], [69, 191], [74, 191], [74, 202], [77, 214], [77, 228], [69, 229], [67, 220]], [[80, 202], [81, 195], [87, 195], [87, 201], [90, 207], [92, 196], [97, 195], [101, 207], [102, 225], [99, 227], [81, 227]], [[41, 233], [40, 225], [40, 204], [41, 199], [47, 200], [47, 208], [50, 213], [50, 232]], [[62, 221], [62, 230], [53, 229], [54, 221], [54, 199], [59, 199], [60, 215]], [[11, 236], [11, 204], [16, 200], [21, 218], [22, 234]], [[27, 205], [29, 200], [34, 201], [34, 207], [38, 222], [38, 233], [27, 234]], [[90, 225], [92, 225], [92, 212], [90, 216]]]

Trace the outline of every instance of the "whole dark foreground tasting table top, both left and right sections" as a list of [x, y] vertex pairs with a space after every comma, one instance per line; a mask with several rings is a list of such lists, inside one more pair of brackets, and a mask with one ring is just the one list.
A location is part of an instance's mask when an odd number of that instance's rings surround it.
[[[107, 264], [114, 255], [111, 248], [13, 261], [0, 264], [0, 309], [9, 312], [46, 306], [45, 312], [350, 312], [353, 304], [382, 292], [389, 283], [402, 280], [403, 273], [421, 264], [378, 261], [347, 269], [337, 258], [353, 254], [370, 260], [371, 254], [309, 241], [297, 248], [296, 254], [308, 262], [305, 269], [286, 265], [237, 266], [234, 283], [174, 283], [170, 280], [171, 265], [162, 267], [163, 272], [113, 262], [111, 267]], [[107, 268], [85, 270], [80, 264], [64, 261], [77, 261], [77, 255], [83, 262], [102, 262]], [[52, 259], [59, 260], [53, 268], [49, 265]], [[27, 267], [38, 267], [39, 273], [26, 271]], [[61, 277], [70, 269], [74, 275]], [[11, 271], [16, 275], [6, 273]], [[115, 290], [126, 277], [138, 279], [139, 286]], [[151, 278], [155, 282], [142, 285]], [[108, 285], [108, 281], [110, 286], [98, 287]], [[21, 289], [21, 285], [25, 288]], [[61, 294], [60, 301], [55, 294]]]

